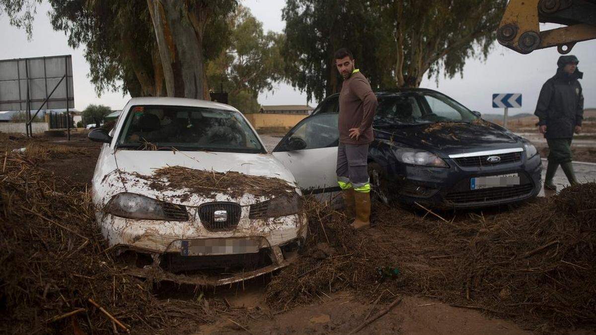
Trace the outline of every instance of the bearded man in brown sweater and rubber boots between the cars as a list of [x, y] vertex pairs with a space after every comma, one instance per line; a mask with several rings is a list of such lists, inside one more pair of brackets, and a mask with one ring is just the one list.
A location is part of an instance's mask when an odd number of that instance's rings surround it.
[[345, 48], [335, 53], [337, 70], [344, 81], [339, 95], [339, 147], [337, 182], [342, 188], [350, 227], [370, 227], [371, 186], [368, 182], [368, 144], [373, 141], [373, 117], [377, 97], [368, 79], [354, 67], [354, 57]]

